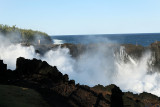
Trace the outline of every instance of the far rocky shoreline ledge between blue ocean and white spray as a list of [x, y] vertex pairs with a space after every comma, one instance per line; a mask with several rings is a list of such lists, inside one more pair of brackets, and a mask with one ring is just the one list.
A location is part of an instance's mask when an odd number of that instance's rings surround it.
[[[142, 55], [145, 52], [151, 52], [151, 56], [153, 59], [152, 65], [155, 69], [160, 69], [160, 41], [156, 41], [152, 44], [150, 44], [147, 47], [141, 46], [141, 45], [133, 45], [133, 44], [49, 44], [49, 45], [33, 45], [35, 48], [36, 53], [39, 53], [41, 55], [44, 55], [49, 50], [60, 48], [68, 48], [70, 51], [70, 55], [73, 58], [80, 57], [81, 54], [86, 52], [87, 50], [96, 50], [96, 48], [99, 48], [101, 45], [103, 45], [103, 48], [109, 47], [111, 49], [114, 49], [115, 52], [120, 50], [120, 47], [124, 47], [125, 52], [127, 55], [130, 55], [134, 59], [139, 59], [142, 57]], [[27, 46], [26, 44], [23, 44], [23, 46]]]

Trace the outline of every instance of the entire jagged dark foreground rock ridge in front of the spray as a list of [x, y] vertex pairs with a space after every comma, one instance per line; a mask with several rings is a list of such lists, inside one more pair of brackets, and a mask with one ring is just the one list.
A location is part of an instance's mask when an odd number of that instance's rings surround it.
[[[34, 89], [53, 107], [145, 107], [160, 104], [160, 98], [149, 94], [123, 93], [116, 85], [89, 87], [75, 84], [47, 62], [22, 57], [16, 70], [7, 70], [0, 61], [0, 84]], [[18, 102], [17, 102], [18, 103]]]

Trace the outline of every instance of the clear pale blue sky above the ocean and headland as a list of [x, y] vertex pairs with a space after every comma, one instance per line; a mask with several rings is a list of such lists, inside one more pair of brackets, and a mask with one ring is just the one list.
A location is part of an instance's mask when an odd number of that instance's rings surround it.
[[160, 0], [0, 0], [0, 24], [49, 35], [160, 33]]

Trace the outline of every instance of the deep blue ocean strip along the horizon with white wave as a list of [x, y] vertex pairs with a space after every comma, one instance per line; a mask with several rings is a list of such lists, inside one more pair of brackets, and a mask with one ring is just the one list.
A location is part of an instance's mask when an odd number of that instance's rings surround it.
[[60, 35], [52, 36], [52, 39], [54, 44], [89, 44], [99, 42], [115, 42], [120, 44], [138, 44], [142, 46], [148, 46], [155, 41], [160, 41], [160, 33]]

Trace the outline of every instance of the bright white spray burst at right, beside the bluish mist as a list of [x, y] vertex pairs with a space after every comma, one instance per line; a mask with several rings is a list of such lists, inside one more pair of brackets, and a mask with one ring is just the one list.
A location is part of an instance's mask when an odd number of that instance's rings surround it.
[[149, 73], [151, 52], [145, 52], [137, 61], [129, 55], [128, 58], [129, 61], [127, 63], [123, 61], [121, 61], [121, 63], [116, 63], [117, 76], [115, 77], [114, 83], [125, 91], [140, 93], [143, 91], [152, 92], [153, 90], [156, 90], [158, 84], [156, 86], [153, 84], [158, 82], [157, 79], [160, 78], [160, 76], [157, 73]]

